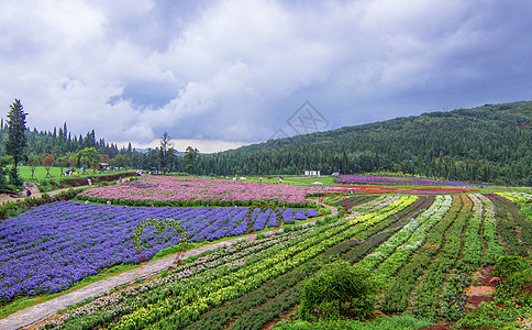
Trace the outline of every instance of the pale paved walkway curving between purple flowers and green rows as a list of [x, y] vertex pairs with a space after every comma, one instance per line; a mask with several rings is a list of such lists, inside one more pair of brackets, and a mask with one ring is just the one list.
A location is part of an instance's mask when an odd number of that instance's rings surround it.
[[[332, 217], [337, 216], [337, 209], [335, 207], [330, 207], [330, 206], [325, 206], [325, 207], [331, 210], [330, 216]], [[301, 226], [309, 226], [309, 224], [313, 224], [315, 220], [312, 220]], [[273, 235], [280, 231], [282, 231], [282, 229], [276, 229], [276, 230], [263, 232], [262, 234]], [[255, 238], [256, 238], [256, 234], [250, 234], [245, 238], [231, 239], [223, 242], [204, 245], [198, 249], [187, 251], [184, 257], [187, 258], [190, 256], [201, 254], [206, 251], [211, 251], [211, 250], [217, 250], [219, 248], [233, 245], [244, 240], [253, 241], [255, 240]], [[49, 316], [55, 315], [58, 310], [65, 309], [68, 306], [106, 294], [117, 286], [129, 284], [140, 278], [145, 278], [157, 272], [160, 272], [167, 268], [168, 266], [170, 266], [174, 263], [175, 258], [176, 258], [176, 255], [174, 254], [174, 255], [166, 256], [165, 258], [162, 258], [162, 260], [148, 262], [138, 268], [122, 273], [120, 275], [117, 275], [110, 278], [96, 282], [93, 284], [90, 284], [73, 293], [54, 298], [49, 301], [42, 302], [40, 305], [35, 305], [33, 307], [29, 307], [26, 309], [20, 310], [0, 320], [0, 329], [2, 330], [26, 329], [32, 324], [35, 324], [36, 322], [40, 322], [48, 318]]]

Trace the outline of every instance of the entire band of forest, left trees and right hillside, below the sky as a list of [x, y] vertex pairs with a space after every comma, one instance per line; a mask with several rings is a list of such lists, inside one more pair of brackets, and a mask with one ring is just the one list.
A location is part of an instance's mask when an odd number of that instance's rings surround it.
[[[159, 146], [137, 151], [131, 143], [119, 148], [97, 139], [95, 130], [85, 136], [71, 134], [67, 123], [53, 131], [30, 130], [25, 128], [25, 116], [11, 114], [13, 109], [22, 111], [20, 100], [10, 109], [8, 122], [0, 122], [0, 188], [8, 183], [7, 177], [12, 184], [20, 184], [14, 175], [16, 164], [66, 168], [95, 167], [99, 163], [163, 174], [402, 172], [451, 180], [532, 186], [532, 102], [429, 112], [271, 140], [215, 154], [199, 154], [191, 146], [180, 153], [171, 146], [166, 132]], [[20, 127], [11, 128], [14, 122], [24, 123], [22, 131]], [[24, 136], [25, 143], [14, 143], [10, 136]], [[13, 153], [22, 145], [23, 152]]]

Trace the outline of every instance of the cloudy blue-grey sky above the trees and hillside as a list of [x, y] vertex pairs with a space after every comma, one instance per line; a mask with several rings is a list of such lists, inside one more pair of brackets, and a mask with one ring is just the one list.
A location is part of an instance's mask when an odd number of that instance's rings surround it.
[[530, 0], [0, 1], [1, 117], [211, 153], [532, 100]]

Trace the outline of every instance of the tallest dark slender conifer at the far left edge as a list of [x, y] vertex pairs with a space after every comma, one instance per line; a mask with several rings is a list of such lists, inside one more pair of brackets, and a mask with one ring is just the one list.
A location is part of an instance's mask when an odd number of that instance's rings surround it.
[[24, 147], [27, 145], [25, 135], [26, 116], [20, 100], [15, 99], [10, 106], [8, 113], [8, 140], [5, 141], [5, 153], [13, 157], [13, 167], [9, 174], [11, 184], [20, 186], [22, 183], [19, 178], [16, 166], [22, 161]]

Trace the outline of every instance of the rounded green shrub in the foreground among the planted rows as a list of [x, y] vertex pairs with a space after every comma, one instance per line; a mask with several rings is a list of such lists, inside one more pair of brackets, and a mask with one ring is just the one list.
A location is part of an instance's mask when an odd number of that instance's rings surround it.
[[369, 272], [339, 261], [302, 286], [299, 316], [303, 320], [364, 319], [373, 315], [376, 285]]

